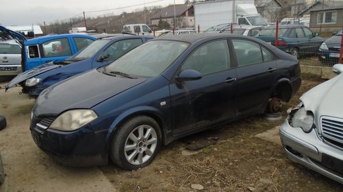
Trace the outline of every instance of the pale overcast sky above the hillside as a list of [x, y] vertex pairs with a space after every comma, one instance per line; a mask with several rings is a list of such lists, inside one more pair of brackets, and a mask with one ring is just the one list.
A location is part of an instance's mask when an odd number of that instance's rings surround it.
[[[1, 0], [0, 25], [46, 25], [72, 17], [119, 15], [154, 5], [174, 5], [185, 0]], [[108, 10], [96, 12], [99, 10]]]

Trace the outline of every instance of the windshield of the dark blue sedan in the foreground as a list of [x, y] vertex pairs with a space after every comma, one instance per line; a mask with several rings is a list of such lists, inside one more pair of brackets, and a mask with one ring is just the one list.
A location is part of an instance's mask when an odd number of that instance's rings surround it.
[[188, 43], [154, 40], [126, 53], [105, 67], [104, 72], [138, 77], [156, 77], [189, 47]]

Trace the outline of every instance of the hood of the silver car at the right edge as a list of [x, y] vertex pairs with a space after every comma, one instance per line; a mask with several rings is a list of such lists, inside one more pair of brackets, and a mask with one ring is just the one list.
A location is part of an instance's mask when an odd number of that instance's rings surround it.
[[322, 115], [343, 118], [342, 100], [343, 93], [343, 73], [331, 80], [327, 80], [310, 91], [307, 91], [300, 100], [306, 110], [314, 112], [316, 119]]

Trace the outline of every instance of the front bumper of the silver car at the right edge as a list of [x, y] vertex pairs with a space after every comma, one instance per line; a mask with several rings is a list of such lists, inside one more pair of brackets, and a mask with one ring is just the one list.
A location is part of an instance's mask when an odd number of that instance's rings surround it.
[[281, 125], [280, 138], [290, 160], [343, 184], [343, 149], [320, 139], [315, 129], [305, 133], [292, 128], [287, 119]]

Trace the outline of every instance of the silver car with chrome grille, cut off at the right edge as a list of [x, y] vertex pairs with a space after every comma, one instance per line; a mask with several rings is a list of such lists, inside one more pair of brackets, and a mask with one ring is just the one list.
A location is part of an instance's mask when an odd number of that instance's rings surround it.
[[[333, 72], [342, 73], [343, 64]], [[343, 184], [342, 93], [342, 74], [307, 91], [281, 125], [280, 137], [289, 159]]]

